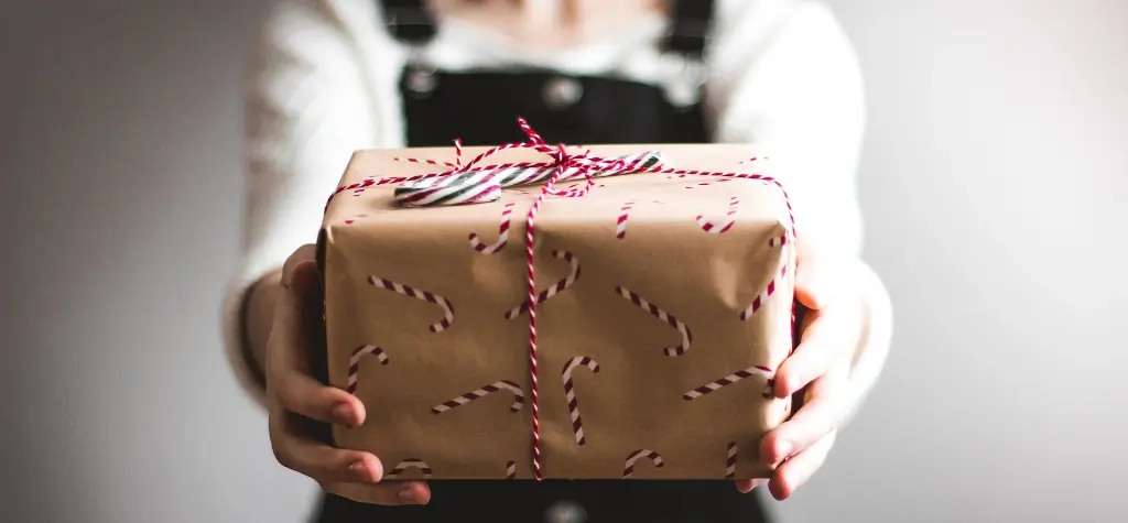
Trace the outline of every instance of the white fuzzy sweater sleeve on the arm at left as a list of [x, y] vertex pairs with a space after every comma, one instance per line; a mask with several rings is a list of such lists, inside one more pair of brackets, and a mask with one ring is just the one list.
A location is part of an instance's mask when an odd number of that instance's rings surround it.
[[224, 345], [244, 389], [263, 387], [248, 362], [243, 305], [248, 289], [317, 238], [321, 209], [374, 125], [347, 30], [317, 0], [279, 3], [254, 47], [245, 101], [246, 215], [239, 266], [223, 307]]

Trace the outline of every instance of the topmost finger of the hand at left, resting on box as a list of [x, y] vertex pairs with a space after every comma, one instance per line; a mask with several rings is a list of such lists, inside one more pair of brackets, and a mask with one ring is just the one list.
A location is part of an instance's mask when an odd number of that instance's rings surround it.
[[309, 374], [307, 351], [315, 342], [305, 321], [308, 303], [293, 289], [279, 298], [267, 340], [267, 387], [285, 410], [324, 423], [360, 425], [364, 423], [364, 405]]

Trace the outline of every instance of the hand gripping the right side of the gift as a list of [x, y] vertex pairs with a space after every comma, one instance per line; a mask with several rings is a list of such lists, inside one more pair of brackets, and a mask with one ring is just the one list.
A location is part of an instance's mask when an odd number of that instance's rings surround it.
[[760, 459], [775, 467], [772, 477], [737, 481], [742, 493], [767, 482], [777, 500], [788, 498], [819, 470], [840, 420], [853, 408], [849, 373], [865, 321], [849, 265], [799, 245], [795, 299], [810, 311], [799, 347], [776, 371], [775, 395], [787, 398], [805, 387], [803, 405], [760, 442]]

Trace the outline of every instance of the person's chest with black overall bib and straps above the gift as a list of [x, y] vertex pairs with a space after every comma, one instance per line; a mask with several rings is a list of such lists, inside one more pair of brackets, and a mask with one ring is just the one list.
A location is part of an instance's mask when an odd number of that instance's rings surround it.
[[[626, 35], [602, 45], [563, 50], [558, 60], [537, 60], [536, 52], [522, 55], [467, 27], [434, 30], [433, 16], [418, 3], [384, 2], [386, 19], [415, 21], [389, 29], [408, 50], [398, 94], [409, 147], [444, 145], [456, 138], [466, 144], [519, 141], [517, 116], [552, 143], [710, 139], [700, 105], [699, 63], [711, 1], [673, 2], [668, 26], [650, 19], [624, 21]], [[662, 36], [670, 29], [677, 38]], [[460, 36], [462, 41], [457, 39]], [[460, 61], [449, 50], [462, 46], [493, 60]], [[461, 67], [444, 67], [459, 62]]]

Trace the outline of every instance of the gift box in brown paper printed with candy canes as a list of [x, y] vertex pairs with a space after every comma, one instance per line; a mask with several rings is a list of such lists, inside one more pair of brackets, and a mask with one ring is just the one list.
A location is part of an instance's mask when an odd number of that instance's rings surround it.
[[766, 477], [759, 441], [791, 413], [772, 384], [795, 250], [754, 157], [537, 140], [354, 153], [318, 260], [327, 379], [368, 414], [335, 444], [391, 479]]

